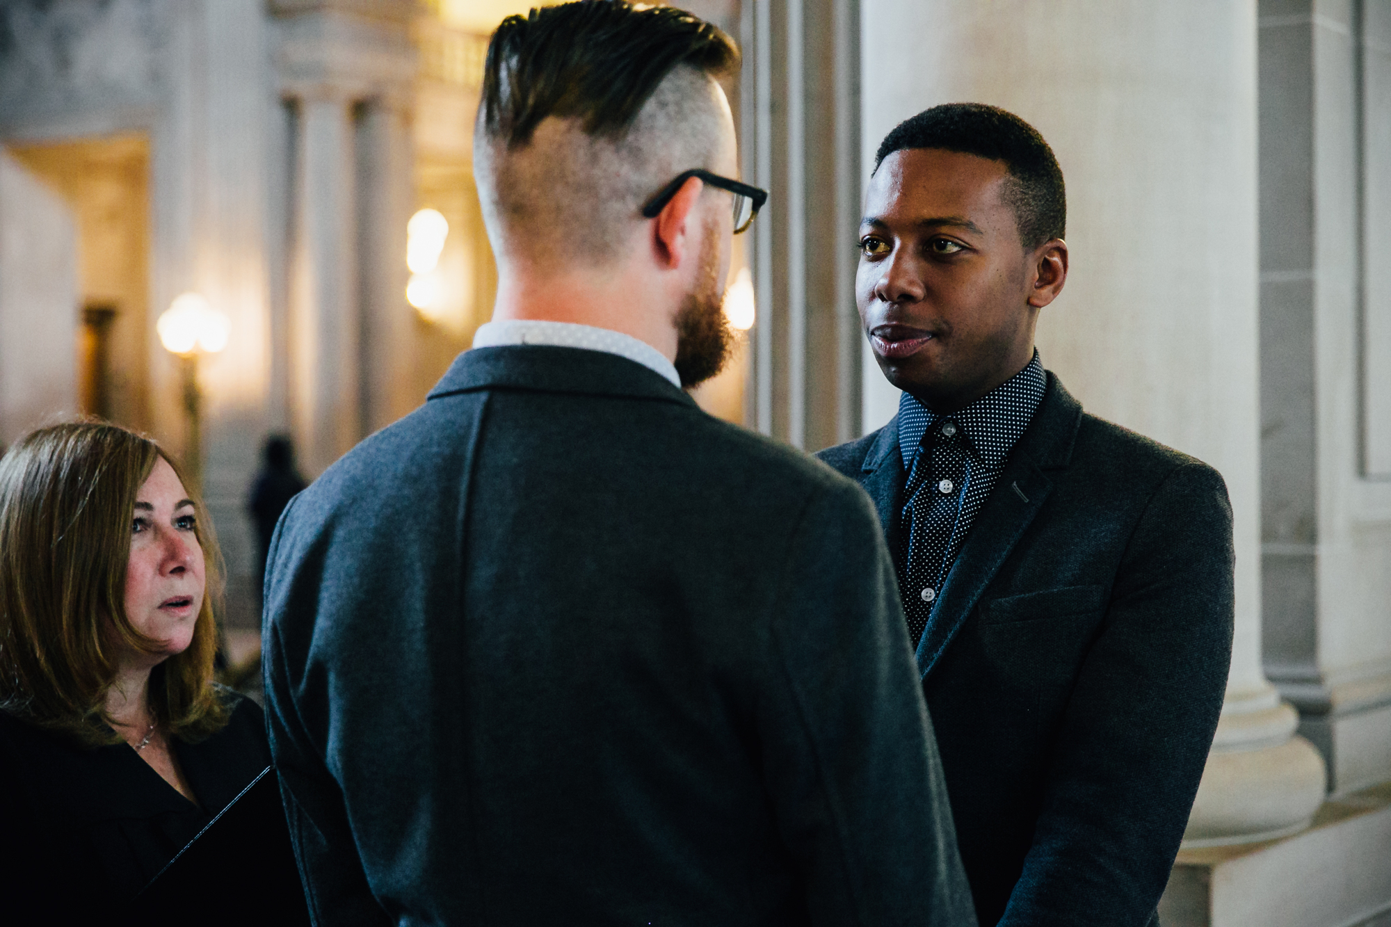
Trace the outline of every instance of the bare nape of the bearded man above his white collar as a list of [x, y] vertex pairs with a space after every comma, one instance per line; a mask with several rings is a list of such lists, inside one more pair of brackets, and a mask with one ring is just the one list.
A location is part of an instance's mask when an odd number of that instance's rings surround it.
[[492, 322], [569, 322], [632, 335], [676, 359], [675, 309], [662, 312], [648, 281], [623, 269], [536, 276], [501, 273]]

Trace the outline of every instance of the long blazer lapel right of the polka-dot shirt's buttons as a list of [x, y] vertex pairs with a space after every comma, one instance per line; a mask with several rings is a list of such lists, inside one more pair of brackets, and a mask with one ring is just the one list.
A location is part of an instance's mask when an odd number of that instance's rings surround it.
[[1082, 406], [1057, 377], [1047, 374], [1047, 391], [1034, 422], [1020, 437], [990, 497], [975, 516], [938, 607], [918, 642], [918, 672], [926, 679], [942, 654], [995, 579], [1020, 537], [1053, 490], [1045, 469], [1067, 466], [1082, 420]]

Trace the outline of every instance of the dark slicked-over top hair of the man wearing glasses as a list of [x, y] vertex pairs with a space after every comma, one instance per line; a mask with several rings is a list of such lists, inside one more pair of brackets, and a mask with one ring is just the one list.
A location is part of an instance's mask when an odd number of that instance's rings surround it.
[[530, 142], [548, 116], [581, 118], [588, 135], [622, 138], [679, 64], [718, 79], [739, 67], [739, 49], [683, 10], [625, 0], [579, 0], [508, 17], [488, 43], [483, 127], [508, 148]]

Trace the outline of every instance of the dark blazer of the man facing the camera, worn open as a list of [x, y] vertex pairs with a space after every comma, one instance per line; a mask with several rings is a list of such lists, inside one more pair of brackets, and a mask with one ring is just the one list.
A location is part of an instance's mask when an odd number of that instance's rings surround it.
[[[821, 454], [890, 532], [897, 425]], [[1153, 917], [1231, 635], [1221, 476], [1084, 413], [1049, 373], [917, 653], [981, 924]]]

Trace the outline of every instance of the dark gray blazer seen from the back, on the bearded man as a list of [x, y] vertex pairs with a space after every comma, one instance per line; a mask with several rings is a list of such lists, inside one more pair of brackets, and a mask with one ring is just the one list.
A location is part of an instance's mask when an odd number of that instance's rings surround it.
[[975, 923], [869, 500], [641, 365], [463, 354], [267, 589], [320, 924]]

